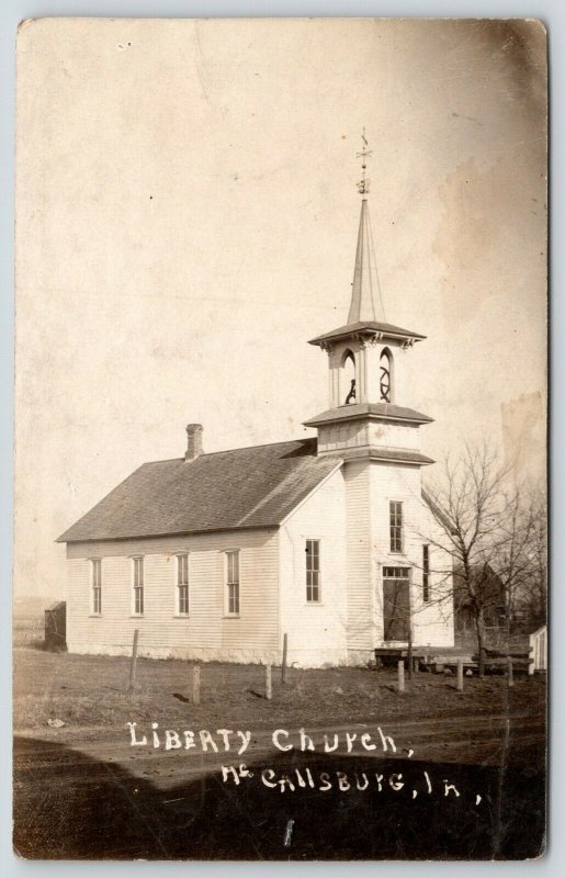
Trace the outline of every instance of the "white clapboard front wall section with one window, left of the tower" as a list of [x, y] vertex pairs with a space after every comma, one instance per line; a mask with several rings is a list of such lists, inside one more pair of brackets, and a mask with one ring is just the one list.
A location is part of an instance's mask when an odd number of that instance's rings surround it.
[[[306, 540], [319, 540], [320, 600], [306, 600]], [[347, 660], [346, 503], [341, 470], [280, 531], [281, 633], [289, 664], [316, 667]]]

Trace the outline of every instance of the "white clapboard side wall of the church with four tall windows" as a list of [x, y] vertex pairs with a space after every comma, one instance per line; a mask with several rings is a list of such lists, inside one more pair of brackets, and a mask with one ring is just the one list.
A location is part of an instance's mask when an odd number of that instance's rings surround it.
[[[226, 618], [225, 554], [240, 553], [240, 614]], [[68, 545], [71, 652], [260, 661], [278, 655], [278, 534], [231, 531]], [[189, 553], [188, 617], [176, 615], [176, 554]], [[132, 556], [144, 556], [144, 615], [133, 615]], [[102, 615], [91, 615], [90, 560], [102, 561]]]

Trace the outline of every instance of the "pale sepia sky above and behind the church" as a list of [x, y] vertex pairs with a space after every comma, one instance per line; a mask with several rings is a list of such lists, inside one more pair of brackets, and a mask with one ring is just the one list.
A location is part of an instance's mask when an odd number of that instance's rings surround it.
[[[20, 29], [16, 594], [188, 423], [215, 451], [312, 435], [360, 198], [441, 461], [543, 475], [545, 34], [533, 21], [38, 20]], [[398, 365], [397, 365], [398, 368]]]

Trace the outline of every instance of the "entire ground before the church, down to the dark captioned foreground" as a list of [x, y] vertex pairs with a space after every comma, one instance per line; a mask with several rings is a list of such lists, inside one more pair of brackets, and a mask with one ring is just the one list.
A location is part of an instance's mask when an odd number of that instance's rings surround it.
[[[543, 678], [466, 677], [457, 693], [452, 675], [418, 673], [399, 694], [392, 671], [292, 668], [282, 684], [273, 668], [269, 701], [264, 667], [211, 663], [196, 706], [188, 662], [140, 658], [134, 694], [128, 675], [127, 658], [14, 650], [21, 855], [489, 859], [543, 848]], [[278, 729], [292, 748], [275, 746]], [[231, 731], [229, 750], [217, 730]]]

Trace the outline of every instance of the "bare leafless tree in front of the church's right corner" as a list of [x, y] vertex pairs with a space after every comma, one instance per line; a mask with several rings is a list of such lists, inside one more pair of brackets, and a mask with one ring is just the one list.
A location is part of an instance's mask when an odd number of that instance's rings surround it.
[[517, 600], [532, 596], [532, 567], [543, 554], [543, 505], [517, 485], [512, 468], [501, 465], [487, 443], [466, 444], [456, 461], [448, 458], [425, 499], [438, 526], [436, 536], [425, 538], [451, 560], [437, 599], [447, 599], [452, 573], [454, 605], [473, 619], [483, 676], [486, 618], [501, 605], [509, 622]]

